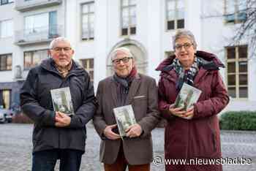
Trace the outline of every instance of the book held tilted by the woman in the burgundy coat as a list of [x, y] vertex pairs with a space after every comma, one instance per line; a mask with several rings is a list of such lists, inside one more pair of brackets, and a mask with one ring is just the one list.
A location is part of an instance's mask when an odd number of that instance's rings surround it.
[[197, 102], [201, 93], [202, 91], [199, 89], [184, 83], [174, 102], [174, 107], [182, 107], [184, 110], [189, 109]]

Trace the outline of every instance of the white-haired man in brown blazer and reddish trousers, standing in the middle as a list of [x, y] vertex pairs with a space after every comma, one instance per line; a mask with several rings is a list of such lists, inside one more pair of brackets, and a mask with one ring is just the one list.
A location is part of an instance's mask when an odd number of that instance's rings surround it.
[[[157, 86], [154, 78], [137, 72], [135, 58], [127, 47], [113, 50], [114, 75], [99, 82], [99, 107], [94, 126], [101, 137], [100, 161], [105, 171], [149, 171], [153, 159], [151, 130], [159, 122]], [[113, 109], [132, 105], [136, 123], [129, 126], [122, 138]]]

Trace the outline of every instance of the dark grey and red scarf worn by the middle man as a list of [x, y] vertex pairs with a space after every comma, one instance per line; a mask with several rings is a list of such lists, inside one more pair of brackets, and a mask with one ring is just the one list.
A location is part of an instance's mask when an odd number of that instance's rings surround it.
[[114, 80], [117, 83], [117, 99], [118, 99], [118, 106], [123, 106], [127, 99], [127, 95], [129, 93], [129, 87], [132, 84], [132, 80], [135, 78], [137, 74], [137, 69], [134, 66], [132, 71], [129, 73], [127, 77], [119, 77], [116, 73], [113, 75]]

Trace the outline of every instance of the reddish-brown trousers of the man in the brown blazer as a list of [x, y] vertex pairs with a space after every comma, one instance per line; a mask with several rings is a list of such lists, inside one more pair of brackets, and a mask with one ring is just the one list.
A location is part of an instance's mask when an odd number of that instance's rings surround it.
[[105, 171], [149, 171], [150, 164], [131, 165], [125, 159], [123, 148], [121, 147], [116, 161], [113, 164], [104, 164]]

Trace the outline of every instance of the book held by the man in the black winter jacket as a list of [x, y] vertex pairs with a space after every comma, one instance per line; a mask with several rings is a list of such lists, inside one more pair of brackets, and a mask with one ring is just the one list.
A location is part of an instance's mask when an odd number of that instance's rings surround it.
[[50, 90], [50, 95], [53, 101], [54, 111], [67, 115], [75, 114], [69, 87]]

